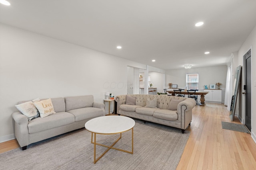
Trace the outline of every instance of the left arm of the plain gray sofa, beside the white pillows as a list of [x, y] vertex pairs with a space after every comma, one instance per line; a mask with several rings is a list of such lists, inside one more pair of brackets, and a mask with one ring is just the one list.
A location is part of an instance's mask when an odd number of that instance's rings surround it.
[[12, 118], [15, 121], [15, 137], [20, 144], [20, 147], [28, 146], [28, 117], [17, 111], [12, 113]]

